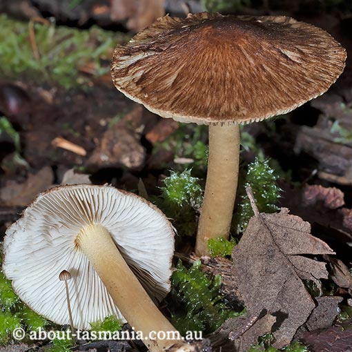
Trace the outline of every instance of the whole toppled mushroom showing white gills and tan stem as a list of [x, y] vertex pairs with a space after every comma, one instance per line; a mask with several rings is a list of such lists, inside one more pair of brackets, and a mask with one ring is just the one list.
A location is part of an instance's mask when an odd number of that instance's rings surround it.
[[[33, 311], [68, 324], [57, 280], [67, 269], [77, 329], [115, 315], [156, 352], [181, 338], [148, 295], [160, 300], [170, 290], [173, 246], [173, 227], [145, 199], [111, 186], [59, 186], [39, 195], [6, 231], [3, 272]], [[150, 331], [176, 337], [161, 340]]]

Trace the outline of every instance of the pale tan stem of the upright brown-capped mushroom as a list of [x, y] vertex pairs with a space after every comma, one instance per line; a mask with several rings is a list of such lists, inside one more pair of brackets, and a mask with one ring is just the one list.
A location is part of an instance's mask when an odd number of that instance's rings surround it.
[[208, 239], [228, 239], [239, 166], [239, 125], [209, 126], [209, 159], [195, 252], [208, 254]]

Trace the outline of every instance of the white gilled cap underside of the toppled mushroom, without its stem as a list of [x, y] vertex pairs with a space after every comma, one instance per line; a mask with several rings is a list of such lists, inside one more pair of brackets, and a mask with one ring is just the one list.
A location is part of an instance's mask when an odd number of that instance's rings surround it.
[[31, 309], [57, 324], [69, 324], [66, 290], [58, 280], [67, 269], [77, 329], [90, 329], [90, 322], [109, 315], [126, 322], [87, 257], [75, 246], [81, 228], [89, 224], [109, 231], [150, 295], [160, 300], [170, 290], [174, 232], [158, 208], [111, 186], [51, 188], [6, 231], [3, 271]]

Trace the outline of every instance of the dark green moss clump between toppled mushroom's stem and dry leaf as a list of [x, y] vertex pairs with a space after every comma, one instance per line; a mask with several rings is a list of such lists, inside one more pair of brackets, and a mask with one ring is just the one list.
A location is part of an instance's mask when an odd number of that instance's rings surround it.
[[183, 335], [186, 331], [211, 333], [229, 317], [241, 314], [228, 309], [222, 301], [220, 275], [209, 277], [200, 265], [197, 261], [187, 269], [179, 261], [171, 277], [171, 295], [177, 302], [172, 321]]

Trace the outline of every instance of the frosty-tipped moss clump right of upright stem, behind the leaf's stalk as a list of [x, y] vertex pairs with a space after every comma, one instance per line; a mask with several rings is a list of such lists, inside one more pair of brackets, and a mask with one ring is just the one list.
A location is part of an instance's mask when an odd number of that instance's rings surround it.
[[278, 176], [271, 168], [268, 159], [260, 161], [256, 158], [255, 162], [248, 165], [244, 179], [244, 184], [239, 186], [239, 192], [242, 195], [233, 217], [233, 224], [237, 233], [246, 229], [249, 219], [254, 215], [251, 203], [247, 195], [244, 194], [246, 187], [251, 186], [257, 207], [263, 213], [273, 213], [279, 209], [276, 203], [282, 191], [276, 184]]

